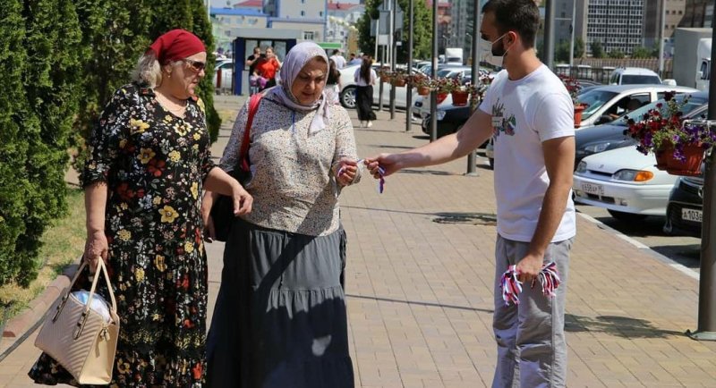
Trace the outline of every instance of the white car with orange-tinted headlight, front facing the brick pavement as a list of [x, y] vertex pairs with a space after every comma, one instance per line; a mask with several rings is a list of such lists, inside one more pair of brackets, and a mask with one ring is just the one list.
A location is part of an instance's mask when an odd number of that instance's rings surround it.
[[653, 154], [644, 155], [635, 147], [586, 156], [574, 174], [575, 201], [604, 207], [624, 221], [666, 215], [669, 192], [678, 177], [655, 164]]

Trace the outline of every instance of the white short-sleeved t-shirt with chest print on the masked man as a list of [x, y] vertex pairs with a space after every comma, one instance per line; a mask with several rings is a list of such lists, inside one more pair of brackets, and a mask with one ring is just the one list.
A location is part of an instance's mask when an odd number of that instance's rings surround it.
[[[562, 81], [542, 64], [521, 80], [509, 80], [507, 71], [499, 72], [480, 109], [492, 115], [499, 235], [531, 241], [550, 184], [541, 143], [575, 135], [572, 99]], [[575, 234], [570, 194], [552, 242]]]

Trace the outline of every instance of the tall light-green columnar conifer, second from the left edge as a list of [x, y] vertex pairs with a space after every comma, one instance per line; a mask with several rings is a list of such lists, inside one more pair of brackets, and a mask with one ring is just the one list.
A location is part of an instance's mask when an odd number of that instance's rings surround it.
[[71, 0], [26, 0], [24, 40], [27, 68], [23, 79], [29, 102], [21, 139], [29, 146], [23, 172], [30, 182], [25, 197], [25, 232], [16, 243], [21, 256], [17, 281], [37, 274], [34, 258], [47, 225], [66, 208], [64, 173], [80, 83], [81, 30]]

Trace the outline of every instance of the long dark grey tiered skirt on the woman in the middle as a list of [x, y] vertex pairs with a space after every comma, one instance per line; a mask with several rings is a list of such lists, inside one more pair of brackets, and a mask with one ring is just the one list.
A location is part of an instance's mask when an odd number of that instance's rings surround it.
[[352, 388], [343, 228], [307, 236], [237, 219], [207, 340], [209, 387]]

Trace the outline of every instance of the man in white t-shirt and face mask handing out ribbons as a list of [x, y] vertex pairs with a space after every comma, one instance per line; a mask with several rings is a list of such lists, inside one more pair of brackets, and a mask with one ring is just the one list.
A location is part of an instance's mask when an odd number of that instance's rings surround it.
[[[533, 43], [540, 13], [533, 0], [490, 0], [482, 7], [482, 39], [502, 56], [479, 109], [461, 131], [421, 148], [381, 154], [366, 164], [374, 176], [466, 156], [493, 136], [496, 242], [493, 331], [498, 362], [492, 387], [563, 387], [567, 378], [564, 309], [569, 250], [575, 237], [571, 199], [575, 161], [574, 105], [564, 84], [537, 58]], [[555, 262], [562, 283], [553, 298], [539, 283], [543, 264]], [[516, 265], [519, 305], [507, 306], [499, 280]], [[515, 385], [513, 385], [515, 384]]]

